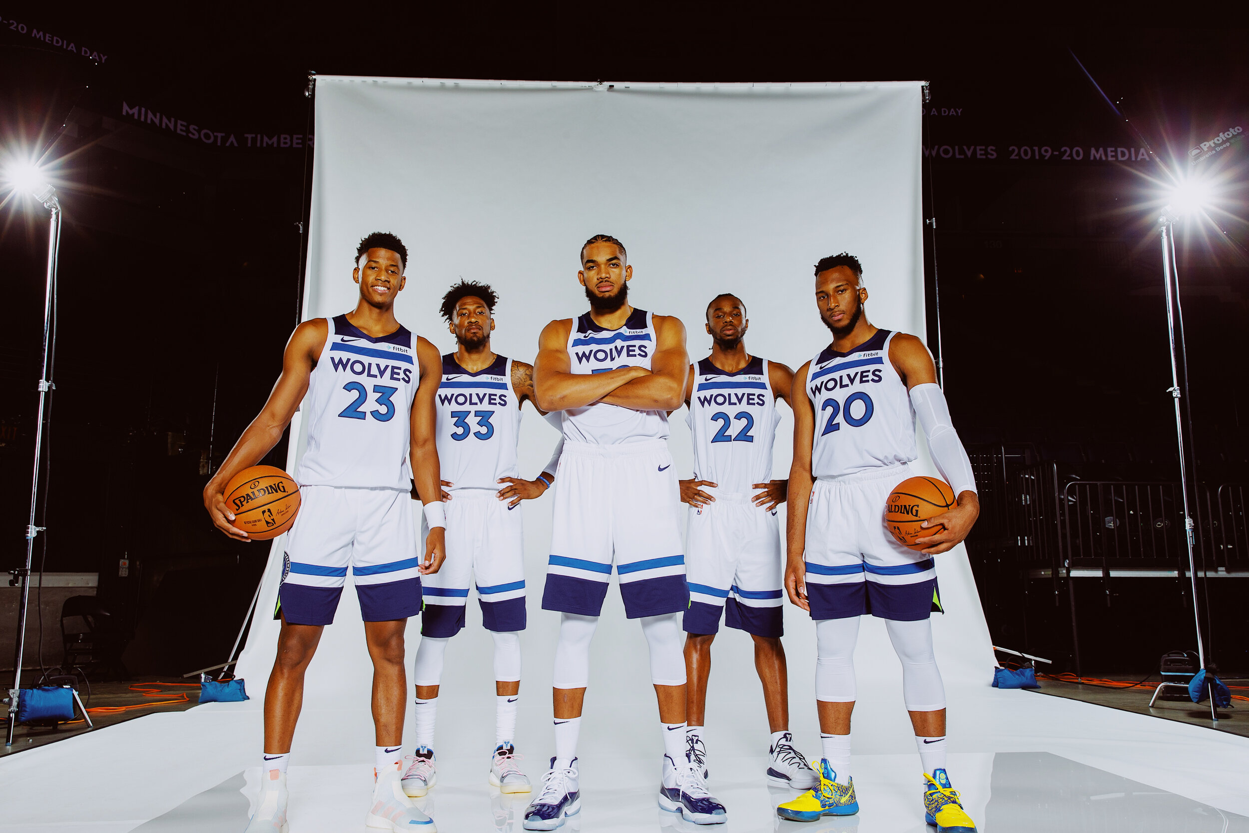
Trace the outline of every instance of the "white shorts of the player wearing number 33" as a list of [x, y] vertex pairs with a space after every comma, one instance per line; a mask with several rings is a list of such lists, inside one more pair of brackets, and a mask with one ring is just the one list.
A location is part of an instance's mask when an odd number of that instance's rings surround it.
[[508, 510], [492, 488], [461, 488], [443, 503], [447, 559], [423, 578], [421, 633], [451, 637], [465, 626], [468, 588], [476, 586], [487, 631], [525, 629], [525, 527], [521, 505]]

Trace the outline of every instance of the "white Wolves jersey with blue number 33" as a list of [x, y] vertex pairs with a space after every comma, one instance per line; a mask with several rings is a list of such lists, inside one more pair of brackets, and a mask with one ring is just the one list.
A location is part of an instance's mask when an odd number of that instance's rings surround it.
[[521, 436], [521, 397], [512, 387], [512, 360], [470, 373], [455, 353], [442, 357], [436, 426], [438, 471], [447, 488], [498, 491], [500, 477], [517, 477], [516, 445]]

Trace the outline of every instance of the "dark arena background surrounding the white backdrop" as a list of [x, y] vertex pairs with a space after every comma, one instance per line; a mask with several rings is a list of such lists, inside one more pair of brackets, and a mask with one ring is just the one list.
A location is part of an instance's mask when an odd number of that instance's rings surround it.
[[[0, 154], [55, 160], [65, 210], [24, 686], [74, 664], [62, 614], [76, 596], [109, 621], [81, 666], [97, 726], [194, 706], [184, 676], [232, 658], [269, 548], [216, 532], [201, 490], [299, 320], [316, 72], [927, 80], [927, 338], [980, 490], [967, 551], [993, 644], [1052, 661], [1037, 666], [1042, 693], [1210, 727], [1208, 706], [1150, 707], [1160, 657], [1195, 651], [1195, 587], [1207, 661], [1249, 693], [1245, 30], [357, 11], [0, 7]], [[1209, 186], [1207, 220], [1175, 226], [1195, 582], [1159, 247], [1168, 170]], [[46, 235], [32, 200], [0, 209], [4, 669]], [[739, 244], [698, 245], [731, 257]], [[714, 267], [698, 280], [712, 290]], [[796, 297], [801, 326], [814, 326], [808, 303]], [[701, 356], [702, 327], [686, 323]], [[286, 460], [284, 440], [262, 462]], [[1249, 736], [1243, 701], [1219, 731]], [[21, 727], [10, 749], [80, 731]]]

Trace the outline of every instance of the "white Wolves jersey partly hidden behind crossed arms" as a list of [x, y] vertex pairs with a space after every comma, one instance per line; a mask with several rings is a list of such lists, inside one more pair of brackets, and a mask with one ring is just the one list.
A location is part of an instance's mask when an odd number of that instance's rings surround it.
[[[573, 322], [568, 333], [568, 361], [573, 373], [602, 373], [618, 367], [649, 370], [656, 341], [654, 322], [646, 310], [633, 310], [620, 330], [600, 327], [587, 312]], [[563, 436], [598, 446], [667, 440], [668, 415], [596, 402], [563, 412]]]

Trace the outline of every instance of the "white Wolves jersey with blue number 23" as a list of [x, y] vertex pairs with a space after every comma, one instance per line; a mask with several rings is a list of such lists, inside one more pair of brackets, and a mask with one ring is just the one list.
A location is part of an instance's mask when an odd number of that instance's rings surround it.
[[373, 338], [346, 315], [328, 321], [321, 358], [300, 406], [309, 443], [300, 486], [412, 488], [412, 398], [421, 382], [416, 336], [400, 327]]

